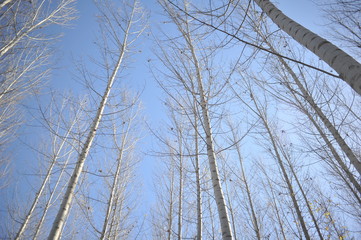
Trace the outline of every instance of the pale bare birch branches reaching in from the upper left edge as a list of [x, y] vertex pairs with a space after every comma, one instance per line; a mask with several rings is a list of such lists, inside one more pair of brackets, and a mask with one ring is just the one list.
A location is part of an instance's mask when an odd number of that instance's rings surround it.
[[[16, 139], [22, 125], [22, 101], [38, 92], [50, 73], [49, 46], [58, 36], [44, 30], [51, 25], [68, 25], [76, 18], [74, 0], [19, 1], [0, 4], [0, 151]], [[11, 166], [9, 155], [0, 160], [3, 175]], [[1, 175], [0, 175], [1, 176]], [[4, 178], [4, 177], [3, 177]]]

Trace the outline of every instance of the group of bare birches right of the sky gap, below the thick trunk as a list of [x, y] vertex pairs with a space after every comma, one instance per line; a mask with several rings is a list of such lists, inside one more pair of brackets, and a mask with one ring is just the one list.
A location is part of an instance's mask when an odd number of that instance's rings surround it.
[[[158, 40], [171, 120], [153, 238], [357, 238], [360, 63], [269, 1], [160, 3], [176, 30]], [[340, 31], [359, 24], [348, 5]]]

